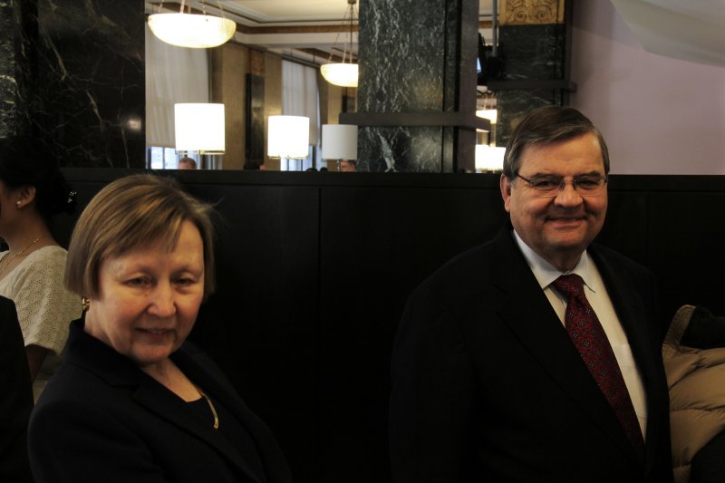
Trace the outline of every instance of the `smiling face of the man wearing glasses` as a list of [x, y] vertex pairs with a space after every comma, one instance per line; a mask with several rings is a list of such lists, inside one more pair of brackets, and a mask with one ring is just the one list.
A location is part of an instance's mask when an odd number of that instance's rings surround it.
[[606, 185], [596, 196], [580, 196], [572, 181], [583, 175], [604, 178], [604, 159], [592, 133], [543, 146], [528, 146], [521, 156], [520, 176], [562, 177], [565, 188], [546, 198], [520, 178], [501, 177], [504, 208], [519, 237], [536, 254], [561, 271], [571, 270], [602, 229], [606, 214]]

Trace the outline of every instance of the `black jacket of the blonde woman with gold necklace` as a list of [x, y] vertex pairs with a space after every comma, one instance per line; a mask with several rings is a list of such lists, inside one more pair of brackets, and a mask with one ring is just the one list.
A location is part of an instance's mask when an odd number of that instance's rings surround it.
[[291, 481], [272, 434], [216, 364], [190, 343], [171, 358], [247, 429], [265, 475], [257, 474], [208, 421], [189, 414], [187, 403], [84, 333], [82, 321], [76, 321], [63, 364], [31, 417], [36, 481]]

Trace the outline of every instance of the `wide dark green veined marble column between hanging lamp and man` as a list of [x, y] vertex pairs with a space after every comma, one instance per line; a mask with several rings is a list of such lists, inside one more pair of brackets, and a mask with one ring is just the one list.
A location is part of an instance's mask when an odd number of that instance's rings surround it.
[[476, 0], [360, 4], [358, 170], [472, 170]]

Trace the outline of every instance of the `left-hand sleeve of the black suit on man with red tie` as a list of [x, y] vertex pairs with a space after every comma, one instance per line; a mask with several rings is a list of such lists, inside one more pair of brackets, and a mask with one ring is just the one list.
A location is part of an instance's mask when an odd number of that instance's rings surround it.
[[411, 296], [391, 365], [395, 483], [469, 481], [477, 382], [458, 324], [439, 297]]

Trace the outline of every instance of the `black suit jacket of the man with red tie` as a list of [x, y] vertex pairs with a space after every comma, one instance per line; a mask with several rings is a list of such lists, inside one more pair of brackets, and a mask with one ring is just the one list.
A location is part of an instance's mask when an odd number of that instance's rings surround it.
[[642, 374], [645, 461], [506, 229], [411, 295], [391, 369], [396, 483], [672, 479], [652, 276], [604, 247], [588, 252]]

